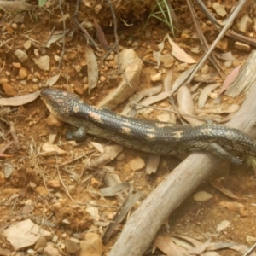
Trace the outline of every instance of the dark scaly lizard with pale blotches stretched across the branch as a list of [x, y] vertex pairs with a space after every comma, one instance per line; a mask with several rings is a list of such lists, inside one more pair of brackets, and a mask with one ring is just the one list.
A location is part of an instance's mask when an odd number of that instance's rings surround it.
[[86, 133], [152, 154], [179, 154], [192, 150], [209, 151], [240, 165], [242, 160], [226, 150], [256, 155], [256, 143], [244, 132], [225, 125], [172, 125], [134, 119], [84, 103], [73, 93], [44, 89], [41, 97], [57, 119], [79, 127], [67, 139], [81, 140]]

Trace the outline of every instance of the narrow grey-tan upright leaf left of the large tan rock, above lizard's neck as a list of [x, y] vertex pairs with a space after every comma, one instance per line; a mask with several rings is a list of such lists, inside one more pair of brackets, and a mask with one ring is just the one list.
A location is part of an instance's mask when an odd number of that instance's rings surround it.
[[88, 67], [88, 93], [90, 94], [90, 90], [96, 87], [99, 76], [96, 56], [90, 46], [86, 47], [86, 61]]

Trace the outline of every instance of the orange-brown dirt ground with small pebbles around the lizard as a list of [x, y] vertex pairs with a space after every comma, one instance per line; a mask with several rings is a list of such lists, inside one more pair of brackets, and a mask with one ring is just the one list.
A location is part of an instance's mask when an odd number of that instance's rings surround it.
[[[97, 16], [89, 7], [84, 6], [84, 3], [87, 3], [87, 1], [81, 3], [79, 21], [85, 20], [88, 22], [95, 16], [100, 26], [102, 26], [108, 43], [113, 44], [113, 26], [110, 26], [112, 16], [108, 8], [106, 8], [105, 15], [100, 12]], [[236, 1], [228, 1], [226, 4], [232, 6], [234, 3]], [[176, 13], [180, 30], [190, 35], [194, 34], [195, 27], [191, 25], [191, 20], [187, 19], [189, 10], [185, 1], [173, 1], [173, 5], [179, 7]], [[118, 5], [115, 7], [118, 7]], [[133, 9], [133, 12], [125, 14], [125, 11], [122, 13], [122, 9], [125, 9], [125, 7], [119, 6], [119, 9], [116, 9], [117, 14], [121, 13], [121, 15], [117, 15], [119, 20], [119, 46], [121, 49], [133, 48], [140, 58], [148, 53], [152, 55], [152, 50], [157, 49], [157, 44], [160, 44], [166, 33], [169, 32], [168, 27], [159, 20], [151, 18], [147, 27], [143, 29], [150, 10], [145, 9], [139, 12]], [[202, 15], [199, 9], [195, 9], [201, 24], [206, 24], [207, 18], [205, 15]], [[75, 10], [74, 2], [62, 1], [62, 10], [64, 15], [69, 14], [72, 17]], [[57, 3], [53, 2], [48, 8], [32, 11], [1, 11], [0, 15], [0, 79], [5, 79], [4, 83], [1, 83], [1, 95], [3, 97], [25, 95], [40, 90], [44, 87], [47, 79], [57, 75], [60, 71], [61, 76], [53, 85], [53, 88], [73, 90], [84, 99], [84, 102], [90, 104], [96, 104], [107, 95], [109, 90], [118, 86], [119, 75], [117, 69], [108, 66], [109, 59], [102, 63], [99, 61], [104, 53], [102, 50], [96, 53], [100, 81], [96, 88], [91, 90], [90, 95], [88, 94], [87, 80], [84, 79], [87, 77], [86, 40], [70, 18], [67, 19], [66, 27], [68, 29], [74, 28], [74, 30], [66, 37], [65, 54], [61, 69], [58, 69], [55, 56], [61, 55], [62, 43], [53, 43], [49, 48], [44, 47], [54, 29], [63, 30], [62, 21], [59, 20], [61, 11]], [[18, 15], [21, 15], [21, 18], [20, 20], [16, 19], [16, 21], [15, 18]], [[208, 23], [207, 25], [212, 29], [207, 30], [204, 35], [208, 43], [211, 44], [218, 32], [213, 29], [213, 26]], [[253, 34], [253, 38], [256, 38], [255, 30], [252, 27], [249, 32]], [[91, 29], [89, 32], [97, 42], [93, 30]], [[148, 37], [148, 32], [150, 37]], [[34, 44], [25, 50], [24, 44], [27, 40], [34, 40]], [[173, 40], [181, 45], [181, 48], [196, 61], [200, 60], [203, 51], [200, 50], [199, 54], [195, 54], [190, 50], [196, 47], [201, 48], [197, 39], [183, 38], [181, 33], [177, 32], [177, 38], [173, 38]], [[228, 50], [236, 56], [240, 63], [243, 63], [249, 52], [234, 49], [234, 40], [232, 38], [228, 40]], [[41, 48], [44, 48], [44, 50], [41, 51]], [[19, 61], [15, 55], [16, 49], [26, 51], [28, 59], [25, 62], [21, 63]], [[221, 51], [216, 49], [216, 53], [221, 53]], [[37, 55], [49, 56], [48, 71], [42, 70], [35, 64], [33, 59], [37, 58]], [[152, 57], [150, 61], [154, 61], [154, 58]], [[230, 73], [233, 67], [224, 67], [223, 62], [220, 63], [225, 72]], [[207, 61], [207, 64], [211, 67], [211, 62]], [[173, 80], [180, 74], [175, 67], [174, 65]], [[154, 65], [144, 61], [137, 91], [153, 87], [154, 84], [151, 82], [150, 76], [155, 73], [157, 73], [157, 70]], [[241, 96], [237, 100], [233, 99], [232, 103], [236, 103], [236, 101], [241, 103]], [[166, 104], [169, 104], [167, 100], [159, 102], [155, 106], [161, 107], [166, 106]], [[114, 111], [120, 112], [124, 106], [125, 104], [122, 104]], [[160, 114], [160, 111], [154, 110], [148, 115], [148, 119], [156, 119], [158, 114]], [[89, 233], [102, 236], [106, 228], [105, 223], [113, 218], [119, 207], [119, 201], [116, 197], [103, 198], [100, 195], [99, 190], [106, 186], [102, 174], [87, 170], [84, 167], [88, 160], [95, 159], [100, 154], [89, 142], [93, 141], [103, 145], [108, 142], [89, 136], [84, 143], [69, 143], [64, 134], [73, 127], [66, 124], [49, 125], [46, 122], [48, 116], [49, 110], [39, 97], [34, 102], [23, 106], [11, 107], [11, 112], [1, 116], [0, 137], [2, 148], [15, 140], [14, 134], [16, 134], [18, 140], [12, 143], [6, 151], [1, 151], [3, 156], [0, 158], [2, 163], [0, 169], [0, 230], [3, 232], [10, 224], [31, 219], [33, 223], [42, 226], [44, 230], [49, 230], [53, 236], [58, 237], [55, 241], [55, 247], [60, 255], [90, 255], [90, 253], [67, 253], [65, 251], [67, 246], [65, 241], [70, 237], [84, 240], [85, 234]], [[52, 134], [56, 135], [55, 144], [64, 150], [65, 154], [49, 156], [42, 154], [44, 151], [42, 146], [49, 141], [49, 135]], [[145, 168], [131, 171], [130, 162], [137, 157], [146, 161], [148, 154], [125, 148], [121, 155], [108, 166], [114, 167], [122, 182], [130, 182], [136, 191], [142, 191], [143, 196], [139, 201], [143, 201], [181, 160], [178, 160], [175, 156], [162, 157], [158, 172], [148, 175]], [[11, 171], [10, 175], [7, 176], [8, 170]], [[78, 177], [75, 177], [74, 173]], [[247, 247], [253, 246], [256, 242], [256, 179], [253, 170], [246, 166], [227, 165], [225, 170], [221, 170], [221, 172], [217, 170], [214, 173], [214, 178], [221, 180], [222, 186], [229, 189], [237, 198], [224, 195], [219, 189], [213, 188], [206, 181], [196, 189], [195, 193], [206, 191], [212, 195], [212, 198], [207, 201], [196, 201], [194, 195], [189, 196], [181, 207], [178, 207], [166, 220], [166, 223], [161, 227], [161, 231], [165, 234], [191, 236], [201, 242], [205, 242], [211, 237], [212, 241], [216, 242], [234, 242]], [[67, 190], [73, 200], [67, 195]], [[89, 205], [81, 206], [76, 204], [76, 201], [99, 206], [95, 207], [97, 214], [100, 216], [99, 220], [94, 221], [93, 214], [88, 210]], [[227, 207], [228, 202], [239, 202], [240, 210]], [[138, 205], [136, 204], [129, 214], [132, 214]], [[217, 226], [224, 220], [229, 221], [230, 225], [218, 232], [216, 230]], [[113, 236], [104, 245], [105, 255], [108, 254], [117, 240], [124, 225], [125, 220], [118, 225]], [[0, 237], [0, 248], [12, 253], [11, 255], [43, 255], [42, 251], [36, 252], [34, 246], [20, 249], [19, 252], [15, 253], [14, 248], [4, 236]], [[31, 254], [29, 248], [32, 248], [35, 254]], [[154, 249], [152, 243], [145, 255], [166, 255], [160, 249]], [[91, 253], [91, 255], [103, 255], [104, 253]], [[216, 253], [218, 254], [214, 255], [241, 255], [241, 253], [231, 249], [216, 250]], [[1, 254], [0, 250], [0, 255], [10, 254]], [[44, 255], [47, 254], [44, 253]]]

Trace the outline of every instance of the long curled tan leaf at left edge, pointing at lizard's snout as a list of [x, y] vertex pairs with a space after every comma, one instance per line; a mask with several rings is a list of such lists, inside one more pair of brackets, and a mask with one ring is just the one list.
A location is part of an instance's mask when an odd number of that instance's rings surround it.
[[37, 90], [35, 92], [26, 94], [26, 95], [14, 96], [14, 97], [10, 97], [10, 98], [1, 98], [0, 105], [2, 105], [2, 106], [24, 105], [28, 102], [34, 101], [36, 98], [38, 98], [39, 95], [40, 95], [40, 92]]

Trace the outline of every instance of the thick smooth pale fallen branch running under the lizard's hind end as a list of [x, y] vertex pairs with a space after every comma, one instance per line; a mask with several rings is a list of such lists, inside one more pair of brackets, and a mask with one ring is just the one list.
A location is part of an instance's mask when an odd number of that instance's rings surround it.
[[[251, 68], [255, 70], [255, 67]], [[256, 136], [255, 95], [256, 86], [234, 119], [227, 124], [252, 137]], [[143, 255], [166, 218], [222, 163], [223, 160], [212, 154], [190, 154], [131, 214], [108, 256]]]

